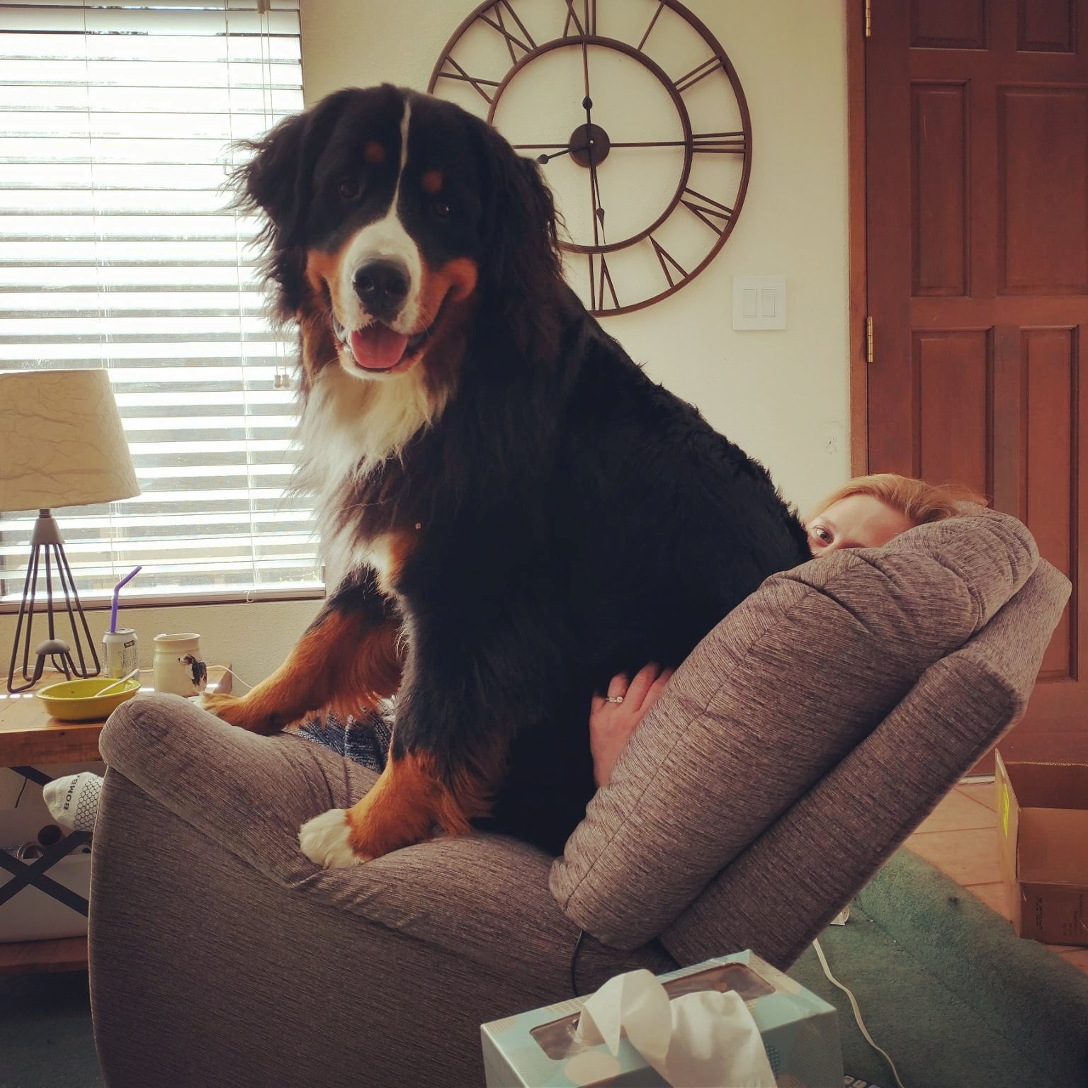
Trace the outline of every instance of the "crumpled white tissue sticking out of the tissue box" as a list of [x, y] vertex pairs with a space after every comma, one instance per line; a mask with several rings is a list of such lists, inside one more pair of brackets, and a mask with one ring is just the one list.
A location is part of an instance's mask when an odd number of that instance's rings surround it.
[[617, 975], [585, 1002], [578, 1035], [616, 1055], [621, 1030], [672, 1088], [775, 1088], [759, 1029], [733, 991], [670, 1001], [648, 970]]

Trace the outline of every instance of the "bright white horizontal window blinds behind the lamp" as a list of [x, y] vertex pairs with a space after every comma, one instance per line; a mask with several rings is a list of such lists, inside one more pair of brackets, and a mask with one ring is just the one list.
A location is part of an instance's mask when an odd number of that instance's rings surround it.
[[[129, 599], [320, 592], [292, 346], [223, 190], [301, 108], [298, 0], [0, 2], [0, 369], [106, 367], [143, 490], [55, 511], [85, 599], [137, 564]], [[33, 521], [0, 514], [4, 601]]]

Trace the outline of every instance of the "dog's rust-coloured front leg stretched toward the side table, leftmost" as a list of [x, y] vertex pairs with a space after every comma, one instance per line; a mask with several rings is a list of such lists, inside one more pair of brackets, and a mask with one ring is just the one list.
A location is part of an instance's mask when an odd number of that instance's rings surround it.
[[400, 683], [399, 621], [372, 571], [329, 597], [287, 660], [245, 695], [202, 695], [205, 709], [255, 733], [272, 733], [330, 707], [342, 715], [373, 707]]

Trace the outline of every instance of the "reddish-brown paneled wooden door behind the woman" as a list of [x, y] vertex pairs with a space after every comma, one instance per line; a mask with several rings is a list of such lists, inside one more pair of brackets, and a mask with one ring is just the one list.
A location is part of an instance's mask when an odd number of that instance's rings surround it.
[[977, 487], [1072, 580], [1002, 745], [1067, 757], [1088, 721], [1088, 0], [871, 9], [868, 470]]

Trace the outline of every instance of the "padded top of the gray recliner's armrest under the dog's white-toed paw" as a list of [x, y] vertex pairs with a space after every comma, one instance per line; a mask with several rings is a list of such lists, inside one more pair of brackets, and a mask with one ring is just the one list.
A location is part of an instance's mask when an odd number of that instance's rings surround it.
[[[299, 826], [358, 801], [375, 781], [373, 771], [300, 737], [258, 737], [227, 726], [176, 695], [123, 704], [100, 747], [111, 774], [313, 903], [481, 964], [544, 973], [558, 997], [568, 992], [568, 953], [579, 928], [552, 898], [552, 858], [535, 848], [475, 832], [323, 870], [299, 850]], [[151, 844], [149, 857], [163, 864], [169, 851]], [[634, 959], [652, 969], [671, 967], [659, 950]], [[615, 953], [583, 942], [580, 980], [603, 981], [619, 969], [627, 968]]]

